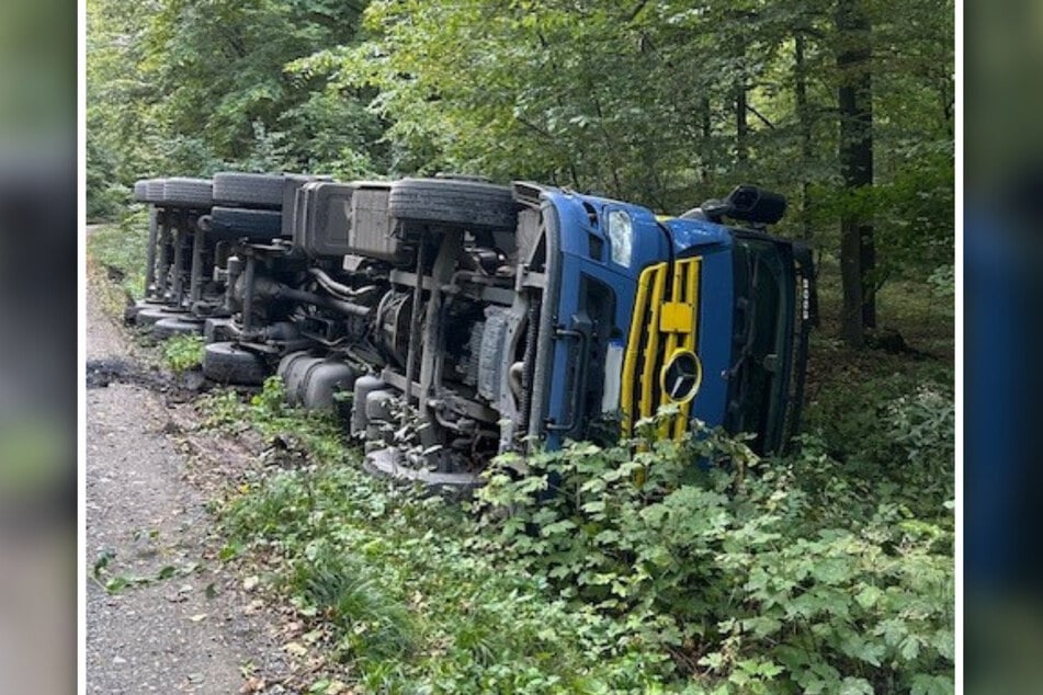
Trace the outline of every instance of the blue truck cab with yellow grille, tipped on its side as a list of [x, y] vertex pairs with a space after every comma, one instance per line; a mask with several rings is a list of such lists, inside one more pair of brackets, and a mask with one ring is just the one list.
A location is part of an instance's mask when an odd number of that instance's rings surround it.
[[763, 230], [781, 196], [740, 186], [674, 218], [525, 184], [515, 196], [538, 214], [545, 244], [529, 265], [545, 277], [530, 435], [557, 447], [606, 420], [625, 435], [673, 403], [673, 436], [698, 419], [752, 433], [760, 453], [784, 447], [800, 418], [814, 273], [805, 248]]

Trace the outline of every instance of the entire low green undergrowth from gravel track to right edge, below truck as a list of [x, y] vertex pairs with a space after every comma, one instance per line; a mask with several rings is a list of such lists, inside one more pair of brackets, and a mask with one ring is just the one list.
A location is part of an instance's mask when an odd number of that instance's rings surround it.
[[[949, 485], [874, 490], [820, 437], [762, 462], [700, 431], [502, 456], [461, 505], [365, 475], [282, 396], [203, 409], [270, 443], [222, 519], [328, 660], [315, 692], [953, 690]], [[925, 388], [883, 410], [877, 482], [951, 481], [950, 408]]]

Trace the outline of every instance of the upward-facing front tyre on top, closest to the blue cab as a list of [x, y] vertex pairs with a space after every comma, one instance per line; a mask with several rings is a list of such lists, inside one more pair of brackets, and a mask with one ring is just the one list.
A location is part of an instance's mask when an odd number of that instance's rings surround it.
[[475, 229], [513, 230], [518, 224], [518, 205], [510, 187], [456, 179], [396, 181], [387, 212], [404, 221]]

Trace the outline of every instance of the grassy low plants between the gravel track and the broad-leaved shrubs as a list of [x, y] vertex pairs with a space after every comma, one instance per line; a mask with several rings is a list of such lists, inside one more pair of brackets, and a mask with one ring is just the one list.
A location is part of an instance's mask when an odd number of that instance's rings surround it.
[[263, 562], [271, 590], [360, 690], [642, 692], [669, 671], [666, 654], [621, 641], [614, 622], [474, 552], [457, 506], [363, 474], [330, 423], [286, 408], [280, 391], [273, 379], [249, 402], [226, 392], [204, 406], [213, 425], [308, 443], [295, 467], [222, 505], [224, 557]]

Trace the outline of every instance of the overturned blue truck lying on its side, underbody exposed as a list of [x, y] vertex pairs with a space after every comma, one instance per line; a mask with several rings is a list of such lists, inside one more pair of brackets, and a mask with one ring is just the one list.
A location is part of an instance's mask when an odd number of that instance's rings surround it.
[[666, 405], [667, 434], [698, 419], [762, 453], [796, 428], [814, 273], [767, 232], [780, 195], [661, 218], [529, 182], [283, 183], [280, 225], [197, 218], [202, 247], [234, 242], [197, 252], [224, 259], [204, 372], [274, 369], [310, 408], [350, 394], [371, 471], [471, 487], [498, 453], [614, 438]]

